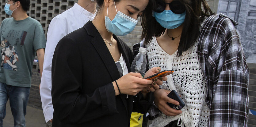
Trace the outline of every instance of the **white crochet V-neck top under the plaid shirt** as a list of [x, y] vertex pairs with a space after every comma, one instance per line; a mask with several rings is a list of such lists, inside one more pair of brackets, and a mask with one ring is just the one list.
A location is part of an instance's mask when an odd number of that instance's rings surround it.
[[177, 51], [173, 55], [167, 54], [154, 37], [147, 45], [149, 68], [160, 67], [161, 70], [173, 69], [174, 73], [167, 76], [161, 89], [176, 90], [185, 103], [181, 109], [182, 114], [166, 116], [164, 114], [153, 120], [150, 127], [164, 127], [169, 122], [181, 120], [186, 127], [207, 127], [210, 109], [206, 104], [206, 82], [197, 58], [197, 42], [181, 57], [177, 57]]

